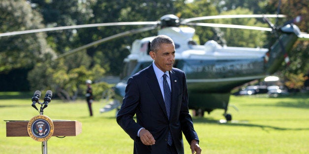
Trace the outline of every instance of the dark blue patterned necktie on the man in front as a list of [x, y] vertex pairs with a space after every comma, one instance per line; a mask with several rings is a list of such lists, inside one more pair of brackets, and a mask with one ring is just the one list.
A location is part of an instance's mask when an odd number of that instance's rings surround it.
[[[166, 74], [163, 75], [163, 90], [164, 90], [164, 103], [167, 113], [167, 118], [170, 119], [170, 113], [171, 113], [171, 90], [166, 80]], [[171, 131], [168, 132], [168, 138], [167, 138], [167, 144], [172, 145], [173, 139], [171, 135]]]

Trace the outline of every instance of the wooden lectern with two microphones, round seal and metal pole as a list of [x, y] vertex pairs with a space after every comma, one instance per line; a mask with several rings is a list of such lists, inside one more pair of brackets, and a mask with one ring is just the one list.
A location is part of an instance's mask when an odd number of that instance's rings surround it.
[[[53, 92], [47, 90], [44, 102], [39, 102], [41, 92], [36, 90], [31, 98], [31, 106], [39, 111], [40, 115], [29, 121], [4, 120], [6, 122], [6, 137], [29, 136], [35, 141], [42, 142], [42, 153], [47, 154], [47, 140], [52, 136], [76, 136], [82, 132], [82, 123], [79, 121], [55, 120], [43, 115], [44, 109], [51, 102]], [[35, 106], [41, 105], [40, 110]]]

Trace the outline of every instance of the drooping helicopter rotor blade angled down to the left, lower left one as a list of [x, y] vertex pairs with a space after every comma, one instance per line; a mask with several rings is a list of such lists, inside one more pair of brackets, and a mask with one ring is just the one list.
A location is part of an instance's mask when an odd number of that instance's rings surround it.
[[128, 31], [125, 31], [125, 32], [122, 32], [122, 33], [118, 33], [118, 34], [109, 36], [109, 37], [105, 37], [105, 38], [103, 38], [103, 39], [94, 41], [94, 42], [89, 43], [89, 44], [87, 44], [87, 45], [84, 45], [84, 46], [81, 46], [81, 47], [79, 47], [79, 48], [73, 49], [73, 50], [71, 50], [71, 51], [65, 52], [65, 53], [59, 55], [56, 59], [60, 59], [60, 58], [62, 58], [62, 57], [64, 57], [64, 56], [73, 54], [73, 53], [75, 53], [75, 52], [77, 52], [77, 51], [81, 51], [81, 50], [87, 49], [87, 48], [89, 48], [89, 47], [95, 46], [95, 45], [100, 44], [100, 43], [103, 43], [103, 42], [110, 41], [110, 40], [112, 40], [112, 39], [116, 39], [116, 38], [123, 37], [123, 36], [130, 35], [130, 34], [136, 34], [136, 33], [144, 32], [144, 31], [148, 31], [148, 30], [153, 30], [153, 29], [155, 29], [156, 27], [157, 27], [157, 26], [146, 26], [146, 27], [142, 27], [142, 28], [137, 28], [137, 29], [128, 30]]

